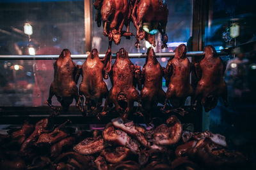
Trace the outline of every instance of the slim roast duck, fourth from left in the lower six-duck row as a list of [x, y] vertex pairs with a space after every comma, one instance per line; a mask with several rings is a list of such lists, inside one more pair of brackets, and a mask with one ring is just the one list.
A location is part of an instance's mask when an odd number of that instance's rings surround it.
[[143, 114], [146, 122], [150, 122], [152, 111], [156, 108], [157, 103], [164, 104], [165, 92], [162, 89], [162, 81], [164, 76], [164, 67], [161, 67], [156, 59], [153, 48], [148, 48], [146, 63], [142, 69], [141, 104], [145, 110]]

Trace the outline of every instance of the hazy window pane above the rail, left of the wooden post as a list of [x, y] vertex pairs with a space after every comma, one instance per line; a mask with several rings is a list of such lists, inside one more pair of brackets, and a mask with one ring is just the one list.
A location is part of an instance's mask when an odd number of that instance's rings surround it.
[[[0, 55], [84, 50], [84, 1], [1, 1]], [[29, 48], [31, 49], [29, 51]]]

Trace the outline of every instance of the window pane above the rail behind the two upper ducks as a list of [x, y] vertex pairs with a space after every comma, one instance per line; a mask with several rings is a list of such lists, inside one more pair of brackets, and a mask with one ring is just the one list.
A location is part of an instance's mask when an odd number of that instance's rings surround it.
[[[161, 34], [156, 34], [156, 48], [155, 52], [173, 52], [176, 46], [180, 43], [187, 43], [192, 34], [192, 17], [193, 17], [193, 1], [192, 0], [173, 0], [166, 1], [169, 15], [166, 26], [166, 34], [168, 35], [168, 49], [161, 49]], [[97, 48], [100, 53], [106, 53], [108, 50], [108, 37], [103, 35], [103, 26], [97, 27], [95, 20], [96, 10], [93, 8], [93, 31], [92, 31], [92, 47]], [[126, 31], [126, 27], [123, 28]], [[112, 45], [112, 52], [117, 52], [121, 47], [129, 53], [147, 52], [145, 39], [140, 41], [141, 47], [136, 48], [136, 29], [131, 22], [130, 32], [134, 34], [131, 39], [121, 38], [120, 45]], [[148, 45], [150, 46], [150, 45]]]

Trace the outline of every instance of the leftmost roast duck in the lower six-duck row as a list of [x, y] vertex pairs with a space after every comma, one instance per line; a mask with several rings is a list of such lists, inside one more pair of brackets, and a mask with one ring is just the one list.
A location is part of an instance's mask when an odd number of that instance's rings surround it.
[[[54, 80], [51, 83], [47, 104], [54, 110], [55, 114], [60, 114], [60, 110], [52, 106], [52, 96], [56, 96], [64, 111], [68, 110], [69, 105], [76, 100], [76, 106], [79, 104], [77, 90], [77, 69], [78, 66], [72, 61], [71, 53], [68, 49], [63, 49], [60, 57], [54, 62]], [[81, 107], [79, 107], [81, 108]]]

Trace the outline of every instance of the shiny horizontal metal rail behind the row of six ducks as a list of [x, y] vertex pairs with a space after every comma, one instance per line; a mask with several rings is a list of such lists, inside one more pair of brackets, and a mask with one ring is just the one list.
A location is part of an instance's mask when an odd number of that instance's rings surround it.
[[[225, 52], [217, 52], [218, 55], [227, 55]], [[100, 58], [103, 58], [105, 54], [99, 54]], [[129, 53], [129, 58], [139, 59], [145, 58], [147, 53]], [[157, 57], [173, 57], [174, 52], [172, 53], [156, 53]], [[188, 57], [201, 57], [204, 56], [204, 52], [188, 52]], [[0, 55], [0, 60], [56, 60], [59, 55]], [[87, 59], [88, 54], [77, 54], [71, 55], [72, 59]], [[116, 58], [116, 53], [112, 54], [112, 58]]]

